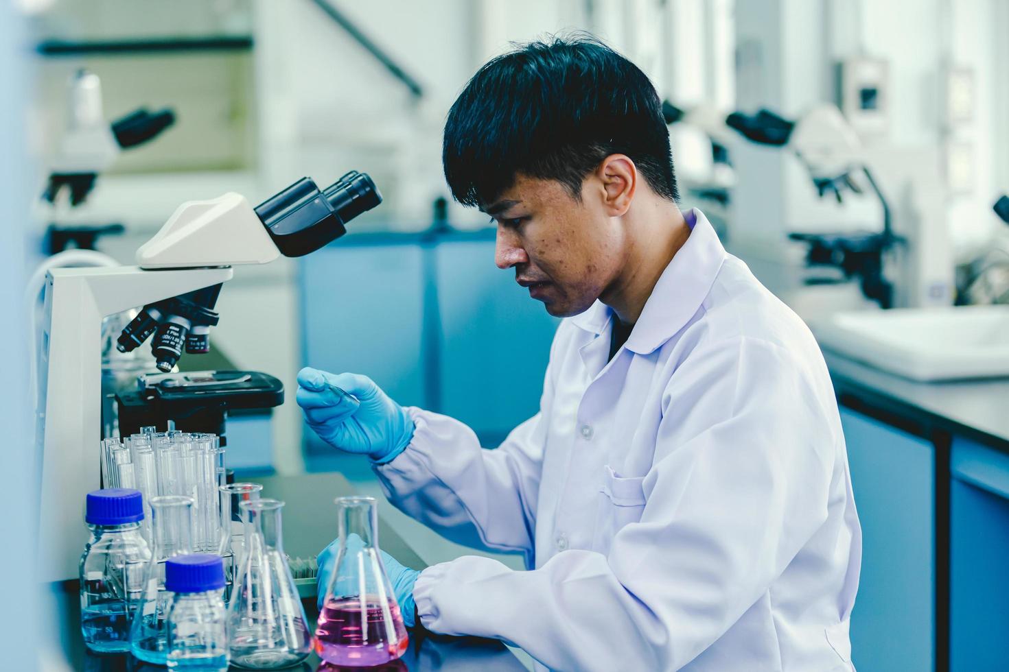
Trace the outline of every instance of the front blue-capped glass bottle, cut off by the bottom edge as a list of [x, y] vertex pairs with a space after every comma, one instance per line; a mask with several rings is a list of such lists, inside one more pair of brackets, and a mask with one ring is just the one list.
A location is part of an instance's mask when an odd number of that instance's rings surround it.
[[177, 555], [164, 562], [164, 587], [175, 593], [167, 617], [170, 670], [228, 669], [224, 561], [219, 555]]

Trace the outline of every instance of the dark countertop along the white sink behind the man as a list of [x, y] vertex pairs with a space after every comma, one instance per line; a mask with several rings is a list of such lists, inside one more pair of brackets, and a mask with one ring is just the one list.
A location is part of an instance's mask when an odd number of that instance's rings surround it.
[[861, 399], [926, 428], [1009, 452], [1009, 379], [920, 383], [824, 350], [842, 402]]

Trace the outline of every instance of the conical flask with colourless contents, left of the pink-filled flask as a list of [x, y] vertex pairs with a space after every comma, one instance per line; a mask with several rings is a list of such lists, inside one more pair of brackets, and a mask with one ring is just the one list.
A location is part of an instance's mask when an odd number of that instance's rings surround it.
[[312, 652], [305, 609], [281, 542], [284, 502], [242, 502], [244, 550], [228, 606], [231, 664], [254, 670], [296, 665]]

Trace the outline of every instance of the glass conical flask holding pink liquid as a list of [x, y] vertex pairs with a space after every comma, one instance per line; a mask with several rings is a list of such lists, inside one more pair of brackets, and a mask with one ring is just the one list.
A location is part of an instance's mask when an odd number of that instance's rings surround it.
[[340, 544], [316, 629], [316, 653], [349, 667], [381, 665], [409, 640], [378, 553], [378, 513], [370, 497], [340, 497]]

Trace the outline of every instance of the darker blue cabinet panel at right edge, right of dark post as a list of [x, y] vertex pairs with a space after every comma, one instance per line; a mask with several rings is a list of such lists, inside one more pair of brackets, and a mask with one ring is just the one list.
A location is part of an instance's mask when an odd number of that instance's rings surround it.
[[1009, 455], [956, 437], [949, 462], [949, 669], [1009, 669]]

